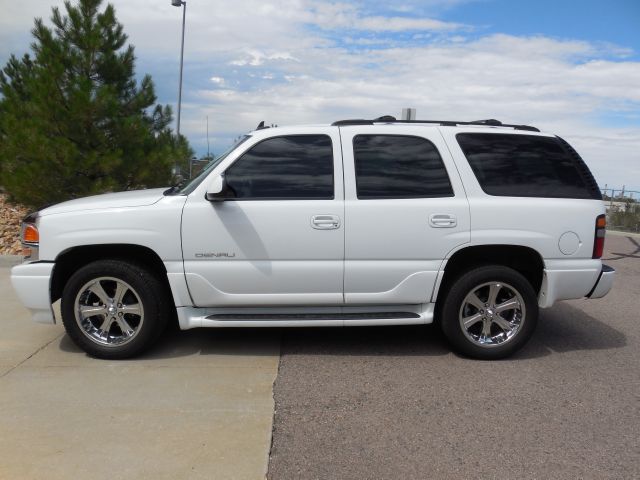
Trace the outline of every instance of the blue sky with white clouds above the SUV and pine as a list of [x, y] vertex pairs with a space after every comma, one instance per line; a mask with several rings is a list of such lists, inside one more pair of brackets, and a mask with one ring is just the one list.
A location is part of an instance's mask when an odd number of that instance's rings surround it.
[[[0, 62], [58, 0], [0, 0]], [[180, 9], [114, 0], [175, 106]], [[567, 138], [601, 186], [640, 190], [640, 1], [188, 0], [182, 132], [214, 152], [267, 123], [499, 118]]]

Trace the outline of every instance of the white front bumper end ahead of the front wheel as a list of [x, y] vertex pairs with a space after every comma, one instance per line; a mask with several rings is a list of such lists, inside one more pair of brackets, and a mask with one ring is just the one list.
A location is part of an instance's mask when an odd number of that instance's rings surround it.
[[38, 323], [55, 323], [51, 308], [53, 262], [23, 263], [11, 269], [11, 284]]

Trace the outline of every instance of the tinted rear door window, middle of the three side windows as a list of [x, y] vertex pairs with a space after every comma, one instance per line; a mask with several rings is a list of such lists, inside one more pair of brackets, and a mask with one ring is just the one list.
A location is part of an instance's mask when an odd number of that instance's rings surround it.
[[359, 199], [453, 196], [440, 153], [424, 138], [357, 135], [353, 156]]

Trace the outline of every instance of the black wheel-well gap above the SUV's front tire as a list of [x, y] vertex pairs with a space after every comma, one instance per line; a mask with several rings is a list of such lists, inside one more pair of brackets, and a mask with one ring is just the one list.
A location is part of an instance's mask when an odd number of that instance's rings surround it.
[[69, 278], [79, 268], [97, 260], [107, 259], [142, 264], [157, 274], [166, 288], [170, 289], [167, 269], [151, 248], [136, 244], [82, 245], [69, 248], [56, 257], [51, 278], [51, 303], [62, 297], [62, 291]]

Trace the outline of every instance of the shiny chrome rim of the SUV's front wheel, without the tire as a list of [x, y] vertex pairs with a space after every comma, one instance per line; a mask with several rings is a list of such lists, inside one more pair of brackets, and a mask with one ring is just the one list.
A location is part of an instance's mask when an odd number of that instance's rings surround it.
[[138, 293], [114, 277], [87, 282], [76, 296], [74, 311], [82, 333], [107, 347], [129, 343], [144, 322], [144, 308]]

